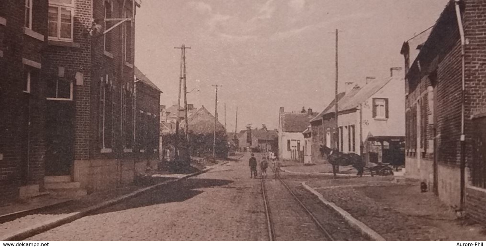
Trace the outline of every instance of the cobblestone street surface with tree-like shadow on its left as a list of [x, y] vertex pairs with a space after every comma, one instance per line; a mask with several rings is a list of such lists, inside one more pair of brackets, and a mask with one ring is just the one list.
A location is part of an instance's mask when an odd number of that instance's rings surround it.
[[[261, 183], [260, 179], [249, 178], [248, 158], [246, 155], [240, 161], [144, 193], [27, 240], [268, 241]], [[329, 240], [282, 183], [273, 176], [264, 182], [276, 240]], [[366, 240], [319, 205], [311, 194], [299, 189], [298, 183], [289, 182], [297, 197], [336, 240]]]

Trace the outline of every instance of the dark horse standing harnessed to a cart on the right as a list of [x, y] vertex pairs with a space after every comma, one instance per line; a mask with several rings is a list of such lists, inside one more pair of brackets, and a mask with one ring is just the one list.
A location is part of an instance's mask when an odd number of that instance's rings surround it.
[[332, 148], [328, 148], [327, 146], [321, 145], [319, 148], [321, 152], [321, 156], [327, 156], [329, 163], [332, 165], [332, 173], [334, 174], [334, 178], [336, 178], [336, 170], [339, 166], [347, 166], [352, 165], [356, 170], [358, 170], [359, 177], [363, 176], [364, 171], [364, 162], [360, 155], [355, 153], [343, 153], [340, 151], [333, 150]]

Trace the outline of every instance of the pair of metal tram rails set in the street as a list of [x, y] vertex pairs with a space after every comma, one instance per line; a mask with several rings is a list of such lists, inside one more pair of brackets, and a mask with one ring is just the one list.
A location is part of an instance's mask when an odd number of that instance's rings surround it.
[[[272, 169], [274, 169], [272, 167]], [[309, 216], [310, 219], [312, 219], [312, 222], [316, 225], [318, 230], [329, 240], [329, 241], [335, 241], [332, 235], [330, 234], [329, 231], [327, 231], [322, 224], [317, 220], [317, 218], [312, 214], [312, 212], [304, 205], [304, 203], [297, 198], [295, 193], [290, 189], [290, 187], [285, 183], [283, 180], [278, 178], [278, 181], [280, 181], [284, 187], [287, 189], [287, 191], [292, 195], [292, 197], [295, 199], [295, 201], [298, 202], [298, 204], [302, 207], [302, 209], [305, 211], [305, 213]], [[275, 229], [274, 229], [274, 223], [272, 221], [272, 212], [270, 210], [269, 206], [269, 201], [267, 198], [267, 191], [265, 188], [265, 180], [260, 179], [261, 182], [261, 193], [263, 196], [263, 203], [265, 206], [265, 214], [266, 214], [266, 219], [267, 219], [267, 229], [268, 229], [268, 238], [270, 241], [277, 241], [276, 235], [275, 235]]]

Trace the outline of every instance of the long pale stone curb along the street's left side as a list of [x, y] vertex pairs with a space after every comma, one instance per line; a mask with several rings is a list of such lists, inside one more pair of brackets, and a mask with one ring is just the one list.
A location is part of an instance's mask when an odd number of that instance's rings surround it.
[[[240, 158], [241, 157], [239, 157], [238, 159], [240, 159]], [[229, 163], [229, 161], [224, 162], [224, 163], [222, 163], [220, 165], [225, 165], [227, 163]], [[141, 193], [144, 193], [144, 192], [147, 192], [147, 191], [150, 191], [150, 190], [155, 190], [155, 189], [157, 189], [160, 186], [167, 185], [169, 183], [174, 183], [174, 182], [178, 182], [178, 181], [181, 181], [181, 180], [184, 180], [184, 179], [188, 179], [188, 178], [191, 178], [191, 177], [195, 177], [195, 176], [201, 175], [201, 174], [206, 173], [209, 170], [213, 169], [214, 167], [217, 167], [217, 166], [209, 167], [209, 168], [203, 169], [201, 171], [188, 174], [188, 175], [186, 175], [184, 177], [181, 177], [181, 178], [178, 178], [178, 179], [175, 179], [175, 180], [164, 181], [164, 182], [157, 183], [157, 184], [154, 184], [154, 185], [145, 187], [145, 188], [141, 188], [141, 189], [138, 189], [138, 190], [136, 190], [134, 192], [128, 193], [126, 195], [123, 195], [123, 196], [120, 196], [120, 197], [117, 197], [117, 198], [113, 198], [113, 199], [104, 201], [104, 202], [102, 202], [100, 204], [97, 204], [97, 205], [93, 205], [91, 207], [86, 208], [85, 210], [82, 210], [81, 212], [71, 213], [71, 214], [68, 214], [66, 216], [63, 216], [61, 218], [58, 218], [58, 219], [53, 219], [53, 220], [49, 220], [49, 221], [46, 221], [46, 222], [42, 222], [42, 223], [37, 224], [37, 225], [34, 225], [34, 226], [30, 227], [30, 228], [22, 229], [22, 230], [19, 230], [17, 232], [11, 233], [11, 234], [9, 234], [7, 236], [0, 236], [0, 242], [6, 242], [6, 241], [21, 241], [23, 239], [32, 237], [32, 236], [37, 235], [39, 233], [42, 233], [44, 231], [49, 231], [49, 230], [51, 230], [53, 228], [62, 226], [64, 224], [68, 224], [70, 222], [73, 222], [73, 221], [75, 221], [77, 219], [80, 219], [80, 218], [82, 218], [84, 216], [87, 216], [89, 214], [92, 214], [95, 211], [98, 211], [100, 209], [109, 207], [109, 206], [114, 205], [114, 204], [117, 204], [117, 203], [120, 203], [123, 200], [127, 200], [127, 199], [130, 199], [130, 198], [134, 198], [134, 197], [138, 196]]]

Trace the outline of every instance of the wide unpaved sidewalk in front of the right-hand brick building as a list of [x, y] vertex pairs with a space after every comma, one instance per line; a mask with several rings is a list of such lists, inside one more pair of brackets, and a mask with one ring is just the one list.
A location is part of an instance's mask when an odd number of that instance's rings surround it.
[[366, 177], [307, 184], [388, 241], [486, 240], [482, 226], [456, 219], [433, 193], [421, 193], [417, 181]]

